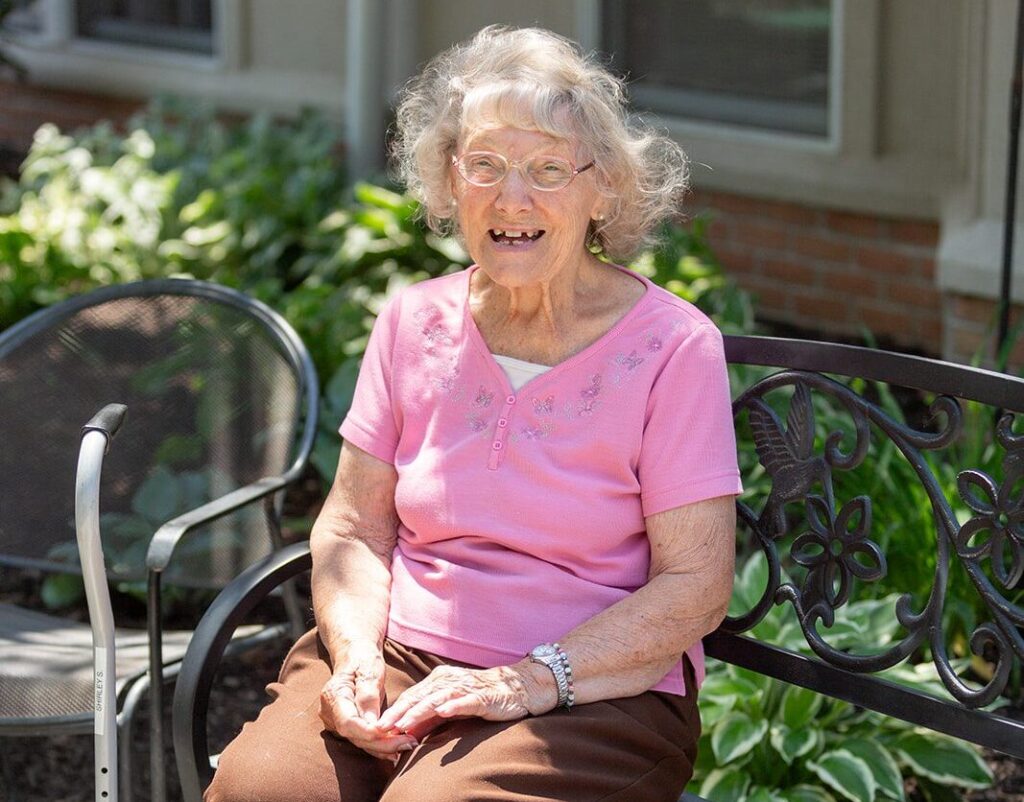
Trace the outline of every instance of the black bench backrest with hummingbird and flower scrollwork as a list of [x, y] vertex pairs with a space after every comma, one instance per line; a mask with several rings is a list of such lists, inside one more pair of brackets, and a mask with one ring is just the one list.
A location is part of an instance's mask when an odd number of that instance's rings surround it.
[[[1024, 380], [799, 340], [726, 337], [726, 353], [737, 546], [763, 556], [708, 652], [1024, 758], [1024, 722], [982, 710], [1024, 661]], [[858, 599], [891, 639], [851, 640]], [[759, 639], [775, 605], [801, 648]], [[910, 657], [931, 660], [944, 698], [880, 676]]]

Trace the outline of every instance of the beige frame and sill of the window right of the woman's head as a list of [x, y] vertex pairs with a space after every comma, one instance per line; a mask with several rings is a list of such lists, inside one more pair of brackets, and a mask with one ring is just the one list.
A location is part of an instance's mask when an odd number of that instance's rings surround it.
[[[773, 198], [810, 206], [932, 217], [947, 178], [881, 149], [883, 0], [833, 0], [837, 25], [830, 136], [808, 137], [643, 114], [679, 141], [698, 191]], [[600, 0], [574, 0], [578, 41], [600, 51]]]

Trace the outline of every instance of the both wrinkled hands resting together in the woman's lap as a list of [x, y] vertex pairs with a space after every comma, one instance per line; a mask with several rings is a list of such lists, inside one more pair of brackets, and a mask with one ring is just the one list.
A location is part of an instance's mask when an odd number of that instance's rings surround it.
[[550, 710], [556, 697], [553, 685], [550, 692], [538, 687], [526, 665], [438, 666], [381, 713], [383, 656], [375, 647], [353, 649], [321, 692], [321, 719], [365, 752], [393, 762], [447, 719], [512, 721]]

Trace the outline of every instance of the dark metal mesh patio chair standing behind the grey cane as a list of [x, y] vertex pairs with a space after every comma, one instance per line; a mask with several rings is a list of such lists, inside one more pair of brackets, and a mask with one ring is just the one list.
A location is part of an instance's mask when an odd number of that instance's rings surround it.
[[[199, 281], [103, 288], [0, 333], [5, 573], [81, 573], [74, 456], [82, 421], [112, 398], [131, 415], [103, 475], [106, 567], [145, 593], [148, 629], [118, 637], [124, 798], [147, 667], [173, 675], [190, 635], [163, 631], [166, 588], [216, 590], [283, 545], [282, 491], [312, 448], [317, 382], [279, 314]], [[0, 735], [91, 731], [88, 628], [12, 604], [0, 605]], [[150, 688], [156, 800], [165, 794], [161, 687]]]

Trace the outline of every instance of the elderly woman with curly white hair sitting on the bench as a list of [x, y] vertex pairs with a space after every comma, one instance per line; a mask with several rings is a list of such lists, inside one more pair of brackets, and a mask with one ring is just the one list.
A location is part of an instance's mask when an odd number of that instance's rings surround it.
[[685, 162], [566, 40], [488, 28], [398, 108], [475, 264], [377, 321], [313, 527], [316, 628], [210, 800], [675, 800], [739, 491], [722, 338], [616, 266]]

